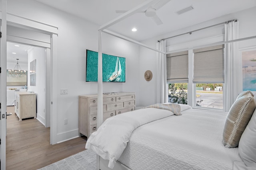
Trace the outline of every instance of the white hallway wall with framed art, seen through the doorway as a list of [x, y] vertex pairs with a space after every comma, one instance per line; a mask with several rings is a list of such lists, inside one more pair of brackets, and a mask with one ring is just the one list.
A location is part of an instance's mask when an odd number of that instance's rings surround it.
[[[30, 85], [30, 62], [36, 59], [36, 86]], [[46, 49], [32, 47], [28, 50], [28, 91], [36, 93], [36, 119], [45, 125]]]

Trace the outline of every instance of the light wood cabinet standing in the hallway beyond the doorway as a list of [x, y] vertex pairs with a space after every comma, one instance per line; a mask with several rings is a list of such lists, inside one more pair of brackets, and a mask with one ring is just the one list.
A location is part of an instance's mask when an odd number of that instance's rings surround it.
[[14, 111], [20, 121], [22, 119], [36, 118], [36, 93], [15, 92]]

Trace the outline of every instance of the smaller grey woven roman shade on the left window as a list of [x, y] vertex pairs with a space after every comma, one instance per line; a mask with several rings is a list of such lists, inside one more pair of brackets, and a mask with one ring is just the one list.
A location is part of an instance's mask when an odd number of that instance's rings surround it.
[[166, 55], [167, 82], [188, 82], [188, 51]]

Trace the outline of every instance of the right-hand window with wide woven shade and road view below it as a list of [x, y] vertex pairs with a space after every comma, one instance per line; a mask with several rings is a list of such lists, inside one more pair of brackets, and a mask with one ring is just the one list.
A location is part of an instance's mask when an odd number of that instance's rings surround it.
[[223, 109], [224, 45], [194, 49], [195, 107]]

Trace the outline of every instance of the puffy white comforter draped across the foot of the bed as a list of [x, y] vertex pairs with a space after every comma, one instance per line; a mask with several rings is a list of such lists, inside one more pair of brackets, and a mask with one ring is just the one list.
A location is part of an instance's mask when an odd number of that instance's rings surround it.
[[[180, 105], [180, 111], [190, 109]], [[174, 115], [171, 111], [156, 108], [135, 110], [116, 115], [104, 121], [98, 130], [90, 135], [86, 149], [92, 149], [103, 159], [109, 160], [108, 167], [113, 168], [126, 148], [129, 138], [137, 127]]]

